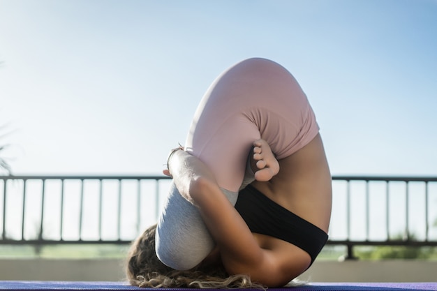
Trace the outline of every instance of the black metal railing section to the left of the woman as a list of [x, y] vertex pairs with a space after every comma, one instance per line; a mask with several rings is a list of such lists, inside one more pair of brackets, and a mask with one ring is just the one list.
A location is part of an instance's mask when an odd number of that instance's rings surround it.
[[[170, 184], [161, 176], [13, 176], [1, 181], [0, 244], [126, 244], [145, 223], [156, 221], [166, 193], [163, 181]], [[123, 234], [126, 228], [130, 235]]]

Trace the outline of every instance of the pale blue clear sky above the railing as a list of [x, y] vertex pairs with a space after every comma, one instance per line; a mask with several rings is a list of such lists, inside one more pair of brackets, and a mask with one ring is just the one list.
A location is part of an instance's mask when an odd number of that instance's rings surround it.
[[249, 57], [295, 75], [332, 174], [437, 175], [435, 0], [0, 0], [3, 156], [14, 174], [160, 174]]

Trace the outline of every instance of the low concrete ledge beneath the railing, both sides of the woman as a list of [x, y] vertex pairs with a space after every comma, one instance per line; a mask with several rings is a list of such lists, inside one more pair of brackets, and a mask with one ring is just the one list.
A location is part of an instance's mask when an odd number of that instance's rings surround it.
[[[0, 260], [0, 280], [124, 281], [124, 260]], [[437, 261], [316, 261], [300, 279], [310, 282], [435, 282]]]

